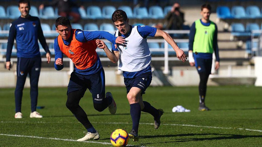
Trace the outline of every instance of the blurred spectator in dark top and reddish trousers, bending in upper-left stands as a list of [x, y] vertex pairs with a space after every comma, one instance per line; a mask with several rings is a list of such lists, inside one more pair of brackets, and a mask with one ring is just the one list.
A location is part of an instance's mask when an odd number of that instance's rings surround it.
[[39, 6], [39, 9], [43, 9], [44, 7], [57, 7], [58, 8], [58, 15], [64, 16], [64, 17], [73, 17], [73, 23], [77, 23], [80, 20], [80, 14], [78, 12], [78, 9], [73, 9], [73, 8], [82, 8], [84, 9], [83, 6], [79, 6], [77, 3], [74, 1], [70, 0], [53, 0], [51, 2], [46, 2], [43, 3]]

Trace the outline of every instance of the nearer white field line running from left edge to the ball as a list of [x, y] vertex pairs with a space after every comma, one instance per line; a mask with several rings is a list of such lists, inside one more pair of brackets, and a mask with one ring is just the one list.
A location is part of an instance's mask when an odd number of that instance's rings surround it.
[[[12, 136], [12, 137], [28, 137], [28, 138], [37, 138], [37, 139], [50, 139], [50, 140], [63, 140], [63, 141], [70, 141], [70, 142], [78, 142], [74, 139], [61, 139], [61, 138], [47, 138], [47, 137], [39, 137], [39, 136], [26, 136], [26, 135], [17, 135], [17, 134], [0, 134], [1, 136]], [[111, 145], [111, 143], [108, 142], [94, 142], [94, 141], [83, 141], [86, 143], [98, 143], [98, 144], [108, 144]], [[133, 146], [133, 145], [127, 145], [127, 146]], [[142, 147], [142, 146], [141, 146]], [[146, 146], [143, 146], [146, 147]]]

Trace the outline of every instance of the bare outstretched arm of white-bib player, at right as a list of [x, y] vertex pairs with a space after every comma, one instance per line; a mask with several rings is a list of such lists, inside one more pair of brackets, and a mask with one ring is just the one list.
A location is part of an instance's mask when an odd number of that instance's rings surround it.
[[179, 49], [174, 39], [168, 33], [157, 29], [155, 37], [163, 37], [166, 40], [166, 42], [172, 46], [179, 60], [182, 60], [183, 62], [187, 60], [187, 56], [185, 55], [184, 51]]

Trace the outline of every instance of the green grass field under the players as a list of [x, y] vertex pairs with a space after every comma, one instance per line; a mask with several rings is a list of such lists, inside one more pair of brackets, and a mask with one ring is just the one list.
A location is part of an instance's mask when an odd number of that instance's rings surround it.
[[[132, 128], [124, 87], [106, 87], [117, 103], [116, 115], [108, 109], [93, 108], [89, 91], [80, 105], [99, 131], [100, 139], [76, 142], [85, 128], [65, 107], [66, 87], [40, 88], [37, 109], [42, 119], [30, 119], [30, 89], [24, 89], [22, 119], [14, 119], [14, 89], [0, 90], [0, 146], [112, 146], [110, 134], [117, 128]], [[129, 146], [261, 146], [262, 87], [208, 87], [206, 105], [211, 111], [198, 111], [198, 87], [149, 87], [143, 96], [155, 108], [162, 108], [161, 126], [154, 129], [153, 117], [141, 113], [139, 141]], [[176, 105], [190, 109], [173, 113]]]

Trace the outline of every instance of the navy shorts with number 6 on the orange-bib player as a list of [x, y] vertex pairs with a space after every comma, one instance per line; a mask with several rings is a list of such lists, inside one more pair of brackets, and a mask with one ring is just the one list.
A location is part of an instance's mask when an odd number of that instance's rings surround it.
[[79, 90], [83, 97], [86, 89], [92, 93], [94, 103], [103, 103], [105, 98], [105, 72], [103, 68], [92, 75], [71, 73], [67, 94]]

